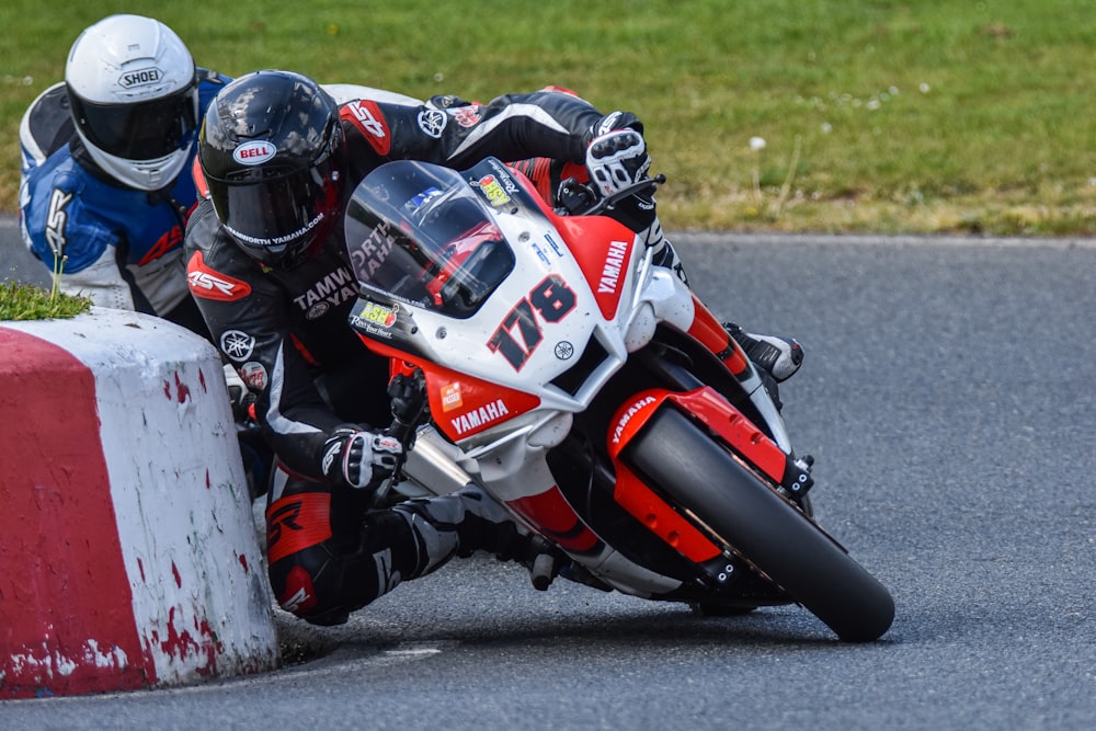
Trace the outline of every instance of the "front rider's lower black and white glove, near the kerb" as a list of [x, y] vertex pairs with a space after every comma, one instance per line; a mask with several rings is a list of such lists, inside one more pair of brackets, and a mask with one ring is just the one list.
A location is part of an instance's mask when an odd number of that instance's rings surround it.
[[336, 484], [379, 488], [391, 479], [403, 458], [403, 445], [395, 436], [343, 424], [323, 443], [320, 468]]

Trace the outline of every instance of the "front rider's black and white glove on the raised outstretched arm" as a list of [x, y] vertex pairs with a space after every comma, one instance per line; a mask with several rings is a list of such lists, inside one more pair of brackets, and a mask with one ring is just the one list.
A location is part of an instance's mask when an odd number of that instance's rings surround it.
[[[650, 169], [647, 141], [635, 129], [605, 133], [586, 148], [586, 170], [603, 197], [647, 179]], [[619, 202], [610, 215], [633, 231], [642, 231], [654, 220], [654, 197], [651, 192], [629, 196]]]

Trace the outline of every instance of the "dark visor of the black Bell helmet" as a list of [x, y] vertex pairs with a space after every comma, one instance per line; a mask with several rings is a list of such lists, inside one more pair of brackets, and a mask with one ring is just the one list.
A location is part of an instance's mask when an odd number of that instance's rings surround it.
[[207, 176], [217, 217], [252, 258], [295, 265], [317, 236], [331, 230], [339, 207], [336, 160], [329, 156], [306, 170], [254, 182]]

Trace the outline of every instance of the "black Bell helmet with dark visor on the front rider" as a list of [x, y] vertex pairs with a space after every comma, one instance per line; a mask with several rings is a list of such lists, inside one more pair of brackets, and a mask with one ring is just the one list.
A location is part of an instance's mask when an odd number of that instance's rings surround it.
[[335, 230], [346, 176], [339, 105], [308, 77], [256, 71], [221, 89], [198, 158], [217, 218], [262, 264], [297, 266]]

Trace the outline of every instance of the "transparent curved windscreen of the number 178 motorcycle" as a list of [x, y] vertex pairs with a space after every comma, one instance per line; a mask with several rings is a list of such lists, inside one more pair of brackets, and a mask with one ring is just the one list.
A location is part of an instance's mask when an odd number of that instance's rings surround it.
[[354, 191], [344, 226], [364, 292], [449, 317], [475, 315], [514, 269], [490, 207], [448, 168], [409, 160], [377, 168]]

